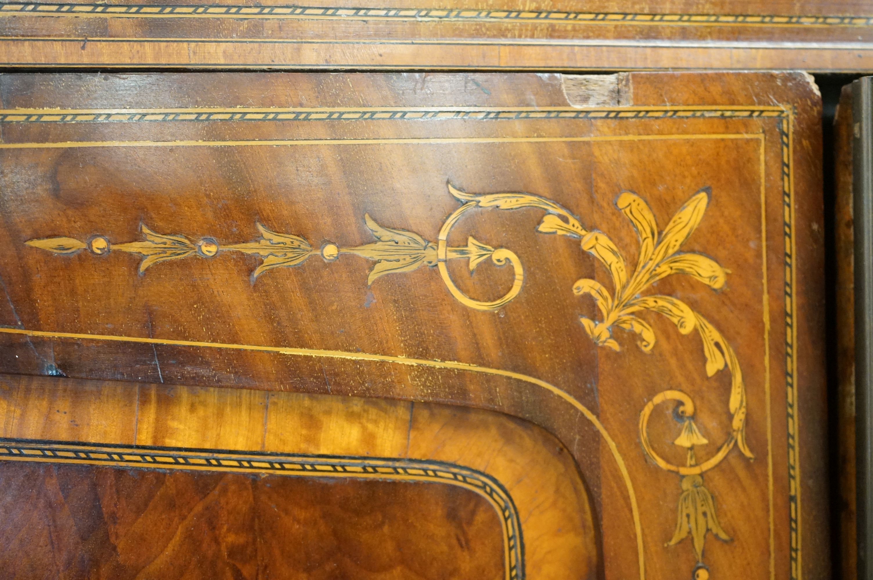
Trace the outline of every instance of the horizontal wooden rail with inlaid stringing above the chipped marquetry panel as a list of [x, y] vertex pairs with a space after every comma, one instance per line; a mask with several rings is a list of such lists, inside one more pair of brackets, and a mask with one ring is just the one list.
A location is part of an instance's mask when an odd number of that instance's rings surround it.
[[7, 3], [9, 66], [873, 70], [867, 2]]

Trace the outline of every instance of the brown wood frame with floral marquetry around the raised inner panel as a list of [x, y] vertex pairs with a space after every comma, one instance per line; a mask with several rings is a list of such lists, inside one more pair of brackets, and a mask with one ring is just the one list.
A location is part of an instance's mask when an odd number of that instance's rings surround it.
[[[602, 577], [824, 574], [807, 75], [8, 75], [0, 94], [0, 370], [497, 410], [572, 454]], [[383, 431], [327, 439], [291, 407], [303, 434], [266, 444], [402, 446], [377, 407], [358, 413]]]

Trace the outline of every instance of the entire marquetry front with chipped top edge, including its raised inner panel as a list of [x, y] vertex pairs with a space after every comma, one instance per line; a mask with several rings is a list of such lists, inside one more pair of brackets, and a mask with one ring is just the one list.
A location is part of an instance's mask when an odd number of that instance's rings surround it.
[[[41, 376], [3, 379], [11, 487], [115, 490], [148, 526], [189, 512], [131, 498], [203, 505], [224, 481], [201, 522], [262, 523], [170, 543], [230, 562], [236, 538], [239, 577], [827, 568], [808, 76], [22, 74], [0, 92], [0, 372]], [[101, 517], [82, 570], [135, 537]], [[318, 529], [295, 545], [351, 543], [294, 559], [264, 531], [289, 522]]]

